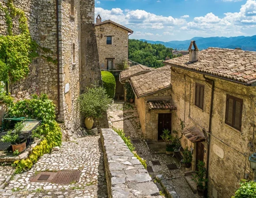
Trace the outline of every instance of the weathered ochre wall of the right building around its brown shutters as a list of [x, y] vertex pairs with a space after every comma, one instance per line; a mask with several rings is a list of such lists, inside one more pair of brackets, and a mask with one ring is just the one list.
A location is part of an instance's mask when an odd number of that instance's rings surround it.
[[[211, 103], [211, 84], [208, 84], [202, 74], [174, 68], [171, 74], [172, 97], [177, 106], [177, 114], [173, 117], [173, 129], [181, 131], [180, 119], [185, 127], [196, 125], [200, 130], [209, 128], [209, 113]], [[184, 75], [185, 74], [185, 75]], [[252, 170], [249, 168], [248, 156], [252, 150], [248, 147], [253, 142], [253, 128], [255, 127], [256, 105], [253, 96], [256, 95], [255, 87], [232, 83], [229, 81], [212, 78], [215, 81], [213, 117], [211, 128], [210, 161], [209, 161], [209, 186], [210, 198], [230, 198], [239, 187], [239, 181], [246, 178], [252, 180]], [[204, 84], [204, 108], [196, 107], [195, 84]], [[243, 113], [241, 132], [225, 124], [226, 95], [230, 94], [243, 99]], [[208, 136], [207, 138], [208, 139]], [[182, 146], [194, 149], [193, 166], [195, 170], [196, 143], [188, 139], [181, 140]], [[207, 163], [208, 143], [203, 143], [204, 161]], [[256, 146], [256, 145], [255, 145]]]

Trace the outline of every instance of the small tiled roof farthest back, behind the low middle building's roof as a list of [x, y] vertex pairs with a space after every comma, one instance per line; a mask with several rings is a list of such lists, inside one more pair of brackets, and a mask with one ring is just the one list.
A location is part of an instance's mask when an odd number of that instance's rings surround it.
[[154, 69], [151, 67], [143, 66], [143, 65], [135, 65], [132, 67], [129, 67], [128, 70], [124, 70], [120, 72], [120, 81], [124, 81], [126, 79], [129, 79], [130, 77], [151, 72]]

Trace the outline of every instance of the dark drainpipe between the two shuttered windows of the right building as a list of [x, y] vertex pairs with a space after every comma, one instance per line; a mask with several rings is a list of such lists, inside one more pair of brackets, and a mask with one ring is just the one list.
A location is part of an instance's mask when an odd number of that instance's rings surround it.
[[[207, 165], [206, 165], [206, 179], [208, 179], [209, 177], [209, 158], [210, 158], [210, 143], [211, 143], [211, 120], [212, 120], [212, 111], [213, 111], [213, 99], [214, 99], [214, 87], [215, 87], [215, 82], [210, 79], [205, 77], [205, 75], [203, 75], [204, 79], [206, 82], [211, 84], [211, 106], [210, 106], [210, 118], [209, 118], [209, 129], [208, 129], [208, 133], [209, 133], [209, 137], [208, 137], [208, 146], [207, 146]], [[209, 182], [209, 180], [208, 180]]]

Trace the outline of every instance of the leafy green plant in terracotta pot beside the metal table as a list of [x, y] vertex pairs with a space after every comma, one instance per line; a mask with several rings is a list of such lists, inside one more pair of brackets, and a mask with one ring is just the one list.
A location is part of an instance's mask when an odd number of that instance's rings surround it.
[[18, 122], [15, 124], [14, 129], [12, 131], [9, 130], [1, 139], [2, 142], [11, 143], [12, 152], [16, 150], [23, 152], [26, 149], [26, 140], [19, 137], [24, 126], [24, 122]]

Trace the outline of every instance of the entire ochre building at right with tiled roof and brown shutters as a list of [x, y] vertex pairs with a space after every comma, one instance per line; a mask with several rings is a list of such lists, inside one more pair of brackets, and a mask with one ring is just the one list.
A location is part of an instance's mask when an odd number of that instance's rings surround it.
[[230, 198], [240, 180], [253, 178], [248, 158], [256, 147], [256, 52], [208, 48], [189, 53], [165, 61], [177, 107], [172, 128], [182, 135], [182, 147], [192, 150], [192, 170], [199, 160], [205, 162], [208, 196]]

